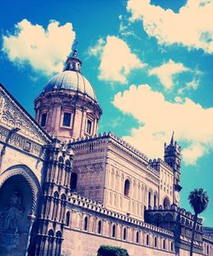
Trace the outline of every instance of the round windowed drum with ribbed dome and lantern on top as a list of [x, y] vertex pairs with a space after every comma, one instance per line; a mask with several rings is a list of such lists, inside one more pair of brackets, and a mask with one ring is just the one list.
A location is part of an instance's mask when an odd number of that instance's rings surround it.
[[49, 79], [34, 102], [36, 120], [50, 135], [62, 141], [94, 136], [101, 118], [95, 90], [82, 72], [77, 49], [61, 73]]

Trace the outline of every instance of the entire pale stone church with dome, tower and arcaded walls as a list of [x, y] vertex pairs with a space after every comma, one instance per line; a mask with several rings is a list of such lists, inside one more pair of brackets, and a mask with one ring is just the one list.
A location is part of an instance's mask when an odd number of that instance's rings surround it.
[[[180, 207], [181, 147], [149, 160], [112, 132], [77, 49], [34, 102], [35, 119], [0, 84], [0, 255], [189, 255], [193, 214]], [[193, 255], [213, 255], [199, 218]]]

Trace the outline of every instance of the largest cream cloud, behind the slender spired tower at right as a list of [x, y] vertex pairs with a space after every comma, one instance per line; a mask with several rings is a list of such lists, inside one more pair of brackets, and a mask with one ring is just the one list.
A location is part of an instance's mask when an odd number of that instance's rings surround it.
[[213, 108], [202, 108], [189, 98], [168, 102], [147, 84], [131, 85], [116, 94], [112, 103], [141, 123], [124, 139], [151, 157], [163, 158], [164, 142], [172, 131], [186, 145], [182, 155], [187, 164], [196, 164], [213, 146]]

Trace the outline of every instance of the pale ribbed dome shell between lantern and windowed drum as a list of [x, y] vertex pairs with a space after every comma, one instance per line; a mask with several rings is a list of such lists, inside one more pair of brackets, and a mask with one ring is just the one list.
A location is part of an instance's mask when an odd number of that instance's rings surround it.
[[49, 80], [48, 84], [43, 89], [43, 92], [52, 90], [75, 90], [88, 95], [96, 101], [95, 90], [89, 83], [88, 79], [83, 77], [83, 74], [76, 70], [65, 70], [56, 74]]

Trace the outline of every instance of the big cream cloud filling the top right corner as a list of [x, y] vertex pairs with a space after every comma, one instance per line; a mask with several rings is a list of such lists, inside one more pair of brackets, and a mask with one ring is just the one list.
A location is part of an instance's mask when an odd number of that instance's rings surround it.
[[187, 0], [178, 13], [152, 5], [151, 0], [129, 0], [131, 21], [142, 20], [149, 36], [158, 44], [183, 44], [213, 52], [213, 1]]

